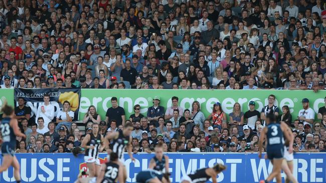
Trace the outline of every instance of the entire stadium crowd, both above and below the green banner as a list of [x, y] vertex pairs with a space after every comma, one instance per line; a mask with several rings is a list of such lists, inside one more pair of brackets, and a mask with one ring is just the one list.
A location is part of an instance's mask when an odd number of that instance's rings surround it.
[[[317, 91], [326, 86], [324, 9], [322, 0], [0, 0], [1, 88]], [[93, 122], [101, 134], [132, 122], [134, 153], [158, 141], [172, 152], [257, 152], [269, 112], [292, 128], [295, 151], [325, 151], [326, 108], [314, 119], [303, 98], [292, 119], [274, 99], [262, 111], [235, 103], [231, 113], [217, 102], [205, 116], [198, 101], [183, 109], [173, 97], [165, 109], [155, 96], [146, 116], [135, 105], [126, 117], [113, 97], [105, 119], [89, 107], [81, 132], [68, 101], [54, 116], [44, 95], [32, 119], [19, 98], [27, 138], [17, 137], [17, 152], [70, 152]]]

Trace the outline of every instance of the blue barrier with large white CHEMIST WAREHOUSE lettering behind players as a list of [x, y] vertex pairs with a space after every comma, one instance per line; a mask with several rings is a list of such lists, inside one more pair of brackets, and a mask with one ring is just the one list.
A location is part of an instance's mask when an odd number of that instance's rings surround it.
[[[171, 182], [180, 182], [181, 177], [216, 162], [223, 163], [227, 169], [218, 174], [218, 182], [259, 182], [272, 170], [269, 160], [259, 159], [257, 153], [168, 153]], [[79, 170], [87, 170], [83, 155], [74, 157], [71, 153], [18, 153], [21, 163], [22, 182], [74, 182]], [[106, 153], [101, 153], [104, 162]], [[154, 154], [134, 154], [131, 161], [125, 154], [128, 171], [127, 182], [135, 182], [137, 172], [147, 169]], [[0, 158], [0, 162], [2, 157]], [[326, 153], [295, 153], [293, 174], [299, 182], [326, 181]], [[285, 174], [282, 173], [284, 182]], [[0, 174], [0, 182], [14, 182], [13, 168]]]

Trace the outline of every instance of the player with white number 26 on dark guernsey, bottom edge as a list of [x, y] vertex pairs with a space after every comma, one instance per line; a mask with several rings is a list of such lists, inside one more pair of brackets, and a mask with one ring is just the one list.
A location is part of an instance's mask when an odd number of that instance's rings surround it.
[[101, 166], [96, 183], [124, 183], [123, 167], [118, 163], [118, 154], [111, 152], [110, 160]]

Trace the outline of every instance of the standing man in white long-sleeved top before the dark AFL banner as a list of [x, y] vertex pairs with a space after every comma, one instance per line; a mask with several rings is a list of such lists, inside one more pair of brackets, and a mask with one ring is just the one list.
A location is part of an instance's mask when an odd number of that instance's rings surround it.
[[36, 122], [38, 122], [39, 117], [43, 117], [44, 126], [48, 128], [48, 124], [52, 121], [54, 117], [54, 106], [50, 103], [50, 95], [48, 93], [43, 96], [44, 103], [41, 103], [37, 109]]

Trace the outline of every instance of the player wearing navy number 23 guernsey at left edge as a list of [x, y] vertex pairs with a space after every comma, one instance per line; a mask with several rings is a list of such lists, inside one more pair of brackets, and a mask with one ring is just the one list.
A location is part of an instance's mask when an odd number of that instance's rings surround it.
[[[0, 130], [2, 134], [2, 155], [3, 164], [0, 166], [0, 173], [6, 171], [10, 165], [14, 166], [14, 176], [16, 182], [21, 182], [20, 165], [15, 156], [16, 149], [16, 136], [22, 136], [26, 138], [26, 135], [22, 133], [18, 127], [18, 121], [14, 118], [14, 108], [4, 103], [2, 109], [3, 120], [0, 121]], [[1, 143], [1, 141], [0, 141]]]

